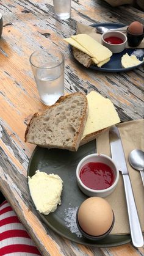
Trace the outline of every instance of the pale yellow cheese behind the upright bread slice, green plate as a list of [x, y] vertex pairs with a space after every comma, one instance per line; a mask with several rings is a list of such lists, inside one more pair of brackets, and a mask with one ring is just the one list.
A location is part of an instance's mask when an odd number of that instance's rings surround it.
[[88, 134], [95, 133], [96, 131], [120, 123], [117, 111], [109, 99], [92, 91], [87, 94], [87, 100], [88, 117], [82, 139]]

